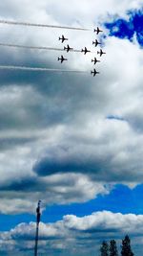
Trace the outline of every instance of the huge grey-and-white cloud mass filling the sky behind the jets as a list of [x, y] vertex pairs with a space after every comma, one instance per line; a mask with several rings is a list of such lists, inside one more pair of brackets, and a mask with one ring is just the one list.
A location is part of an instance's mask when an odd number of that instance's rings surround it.
[[[125, 16], [141, 5], [29, 1], [21, 8], [22, 3], [1, 3], [1, 18], [93, 28], [93, 23]], [[0, 29], [3, 42], [26, 45], [59, 47], [57, 38], [63, 34]], [[92, 32], [65, 33], [74, 48], [87, 45], [95, 51]], [[70, 53], [63, 64], [88, 71], [82, 75], [0, 71], [1, 211], [29, 212], [39, 198], [46, 203], [85, 201], [110, 191], [108, 182], [142, 182], [141, 49], [135, 40], [109, 37], [104, 43], [107, 55], [95, 79], [90, 76], [94, 54]], [[59, 68], [56, 52], [1, 48], [0, 53], [2, 64]]]

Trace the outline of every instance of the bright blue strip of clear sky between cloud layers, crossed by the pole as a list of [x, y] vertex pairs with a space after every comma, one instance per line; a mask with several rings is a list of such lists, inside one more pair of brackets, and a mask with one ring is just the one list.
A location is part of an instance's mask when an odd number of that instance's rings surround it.
[[[122, 214], [143, 214], [143, 185], [130, 189], [125, 185], [116, 185], [106, 196], [99, 196], [85, 203], [48, 206], [42, 214], [42, 221], [54, 222], [62, 220], [63, 216], [71, 214], [77, 217], [91, 215], [95, 211], [112, 211]], [[1, 215], [1, 230], [8, 231], [20, 222], [35, 221], [34, 215]], [[5, 224], [4, 224], [5, 223]]]

